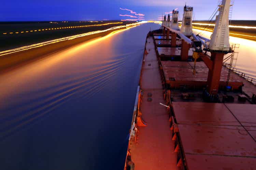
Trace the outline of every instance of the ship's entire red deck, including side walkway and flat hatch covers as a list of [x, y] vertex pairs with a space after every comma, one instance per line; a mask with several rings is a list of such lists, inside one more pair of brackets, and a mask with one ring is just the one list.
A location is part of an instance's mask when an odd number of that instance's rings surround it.
[[[170, 40], [161, 42], [169, 45]], [[256, 169], [256, 105], [251, 100], [256, 86], [231, 71], [229, 85], [243, 86], [219, 90], [219, 103], [205, 102], [208, 68], [203, 62], [193, 74], [194, 62], [163, 61], [167, 58], [159, 55], [161, 48], [174, 53], [179, 48], [158, 47], [156, 36], [149, 36], [145, 47], [140, 109], [147, 126], [139, 127], [139, 140], [129, 147], [136, 169]], [[223, 67], [220, 87], [227, 73]]]

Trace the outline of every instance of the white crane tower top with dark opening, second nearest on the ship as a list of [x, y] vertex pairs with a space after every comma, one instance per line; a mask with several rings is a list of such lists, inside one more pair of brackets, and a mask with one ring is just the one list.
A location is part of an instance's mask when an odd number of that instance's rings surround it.
[[193, 7], [184, 6], [183, 19], [181, 24], [181, 33], [185, 36], [192, 35], [192, 12]]

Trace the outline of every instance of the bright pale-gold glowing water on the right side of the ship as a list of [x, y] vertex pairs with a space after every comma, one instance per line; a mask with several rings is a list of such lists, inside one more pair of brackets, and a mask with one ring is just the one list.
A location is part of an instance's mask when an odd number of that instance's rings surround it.
[[[206, 38], [210, 38], [212, 34], [208, 31], [193, 30]], [[236, 68], [256, 79], [256, 41], [232, 36], [229, 37], [229, 41], [232, 44], [240, 44], [240, 47], [235, 49], [235, 52], [238, 52], [237, 61], [234, 61], [236, 62]]]

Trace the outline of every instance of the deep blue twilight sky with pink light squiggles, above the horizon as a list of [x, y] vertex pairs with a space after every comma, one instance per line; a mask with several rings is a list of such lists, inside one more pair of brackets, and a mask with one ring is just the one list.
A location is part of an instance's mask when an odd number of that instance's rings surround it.
[[[218, 0], [3, 0], [0, 21], [120, 20], [143, 17], [145, 20], [157, 20], [175, 8], [178, 8], [179, 17], [182, 18], [185, 2], [194, 7], [196, 20], [208, 20]], [[255, 6], [255, 0], [236, 0], [232, 19], [256, 20]]]

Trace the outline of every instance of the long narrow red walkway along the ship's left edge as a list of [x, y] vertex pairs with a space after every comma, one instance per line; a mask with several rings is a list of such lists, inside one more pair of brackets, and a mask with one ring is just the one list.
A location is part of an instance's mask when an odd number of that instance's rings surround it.
[[[148, 54], [145, 55], [141, 74], [143, 90], [141, 111], [148, 125], [139, 128], [138, 143], [131, 144], [130, 153], [136, 169], [175, 170], [176, 154], [173, 151], [174, 142], [169, 128], [169, 112], [159, 104], [165, 101], [162, 97], [162, 82], [152, 37], [147, 38], [146, 49]], [[147, 101], [148, 93], [152, 94], [151, 102]]]

